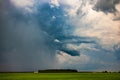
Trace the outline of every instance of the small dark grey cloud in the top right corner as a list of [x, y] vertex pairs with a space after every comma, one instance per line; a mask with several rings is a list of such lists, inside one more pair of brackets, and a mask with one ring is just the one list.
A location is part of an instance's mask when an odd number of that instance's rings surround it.
[[97, 0], [93, 9], [105, 13], [115, 13], [117, 11], [115, 6], [119, 3], [120, 0]]

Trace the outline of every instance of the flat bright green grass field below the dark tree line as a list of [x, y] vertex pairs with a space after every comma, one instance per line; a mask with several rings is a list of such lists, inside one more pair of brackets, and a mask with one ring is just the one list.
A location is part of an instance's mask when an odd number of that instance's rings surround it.
[[0, 80], [120, 80], [120, 73], [0, 73]]

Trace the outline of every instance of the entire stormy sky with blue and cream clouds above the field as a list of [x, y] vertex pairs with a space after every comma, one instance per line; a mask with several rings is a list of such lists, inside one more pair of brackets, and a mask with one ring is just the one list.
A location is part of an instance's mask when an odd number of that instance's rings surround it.
[[0, 0], [0, 71], [120, 71], [120, 0]]

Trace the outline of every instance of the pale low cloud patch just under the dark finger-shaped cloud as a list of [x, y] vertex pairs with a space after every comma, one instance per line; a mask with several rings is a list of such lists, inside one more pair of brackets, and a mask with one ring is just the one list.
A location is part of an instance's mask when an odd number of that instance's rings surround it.
[[57, 59], [62, 66], [70, 66], [70, 65], [84, 65], [87, 64], [90, 58], [87, 55], [81, 53], [80, 56], [70, 56], [64, 52], [60, 52], [57, 54]]

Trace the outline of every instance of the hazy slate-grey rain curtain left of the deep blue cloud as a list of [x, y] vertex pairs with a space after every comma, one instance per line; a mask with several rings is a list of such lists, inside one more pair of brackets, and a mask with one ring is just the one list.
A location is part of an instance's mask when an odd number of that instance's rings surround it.
[[40, 29], [34, 14], [24, 14], [9, 0], [0, 4], [0, 71], [55, 67], [52, 40]]

